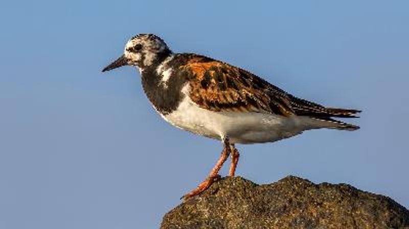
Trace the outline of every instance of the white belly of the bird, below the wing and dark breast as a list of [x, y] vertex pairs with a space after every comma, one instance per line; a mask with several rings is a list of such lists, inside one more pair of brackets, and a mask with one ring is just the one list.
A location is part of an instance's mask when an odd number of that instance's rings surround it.
[[256, 112], [215, 112], [200, 108], [188, 97], [177, 110], [163, 118], [172, 125], [195, 134], [230, 142], [252, 144], [275, 142], [301, 133], [300, 118]]

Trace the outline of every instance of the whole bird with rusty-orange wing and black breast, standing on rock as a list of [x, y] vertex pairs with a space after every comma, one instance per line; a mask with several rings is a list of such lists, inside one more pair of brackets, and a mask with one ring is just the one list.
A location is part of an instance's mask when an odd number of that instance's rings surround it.
[[360, 110], [323, 106], [229, 63], [174, 53], [155, 34], [131, 37], [123, 55], [102, 72], [125, 65], [139, 68], [143, 90], [164, 120], [223, 145], [208, 177], [185, 194], [185, 200], [219, 180], [219, 170], [229, 157], [229, 175], [235, 175], [240, 156], [236, 144], [271, 143], [311, 129], [359, 129], [334, 118], [359, 118]]

